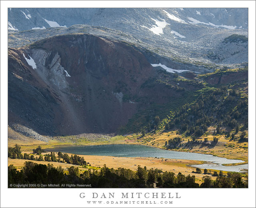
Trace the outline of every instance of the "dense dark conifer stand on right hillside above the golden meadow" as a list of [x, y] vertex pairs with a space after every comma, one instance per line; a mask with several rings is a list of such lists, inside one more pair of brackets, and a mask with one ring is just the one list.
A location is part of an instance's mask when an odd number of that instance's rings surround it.
[[[212, 89], [214, 90], [214, 89]], [[220, 134], [222, 128], [237, 128], [243, 124], [243, 129], [248, 128], [248, 100], [241, 98], [241, 94], [234, 89], [228, 90], [225, 86], [202, 92], [192, 104], [186, 104], [174, 113], [168, 121], [166, 130], [179, 129], [186, 131], [187, 136], [201, 136], [209, 126], [217, 124], [215, 134]], [[240, 136], [245, 139], [246, 132]], [[214, 142], [218, 142], [215, 138]]]

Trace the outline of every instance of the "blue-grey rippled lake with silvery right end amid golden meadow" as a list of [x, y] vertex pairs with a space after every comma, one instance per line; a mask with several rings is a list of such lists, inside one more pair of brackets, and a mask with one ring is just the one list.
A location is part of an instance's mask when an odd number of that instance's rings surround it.
[[[199, 154], [192, 152], [176, 152], [170, 150], [162, 150], [155, 147], [145, 145], [129, 145], [129, 144], [107, 144], [107, 145], [86, 145], [86, 146], [60, 146], [53, 149], [48, 149], [51, 152], [66, 152], [82, 155], [100, 155], [100, 156], [115, 156], [115, 157], [157, 157], [170, 158], [181, 160], [200, 160], [211, 162], [211, 164], [194, 165], [201, 169], [214, 169], [240, 172], [242, 169], [248, 169], [248, 164], [237, 166], [222, 166], [222, 164], [244, 162], [242, 160], [230, 160], [220, 158], [209, 154]], [[214, 164], [212, 164], [214, 163]]]

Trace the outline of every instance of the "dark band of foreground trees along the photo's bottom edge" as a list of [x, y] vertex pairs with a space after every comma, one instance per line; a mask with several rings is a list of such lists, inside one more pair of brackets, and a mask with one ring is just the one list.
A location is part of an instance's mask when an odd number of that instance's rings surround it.
[[[199, 169], [199, 168], [198, 168]], [[200, 169], [199, 169], [200, 170]], [[61, 166], [36, 164], [25, 162], [22, 170], [18, 171], [11, 164], [8, 166], [8, 187], [10, 184], [91, 184], [92, 188], [247, 188], [248, 179], [240, 174], [228, 173], [212, 180], [210, 176], [203, 177], [204, 182], [199, 186], [195, 183], [195, 176], [185, 176], [173, 172], [162, 172], [158, 169], [147, 170], [146, 166], [138, 166], [137, 171], [125, 168], [107, 168], [104, 165], [99, 171], [85, 170], [79, 173], [77, 167], [71, 166], [64, 173]], [[45, 187], [45, 186], [41, 186]], [[31, 188], [38, 188], [32, 186]], [[49, 188], [46, 186], [46, 188]], [[57, 187], [58, 188], [58, 187]], [[67, 188], [67, 186], [66, 186]]]

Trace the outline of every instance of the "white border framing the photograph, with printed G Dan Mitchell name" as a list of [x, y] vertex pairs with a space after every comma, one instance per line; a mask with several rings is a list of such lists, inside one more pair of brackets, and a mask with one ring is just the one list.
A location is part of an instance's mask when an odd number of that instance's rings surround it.
[[[81, 192], [179, 192], [164, 204], [104, 204], [104, 207], [255, 207], [255, 1], [1, 1], [1, 207], [89, 207]], [[14, 7], [226, 7], [249, 8], [249, 188], [248, 189], [8, 189], [7, 188], [7, 8]], [[153, 200], [153, 199], [151, 199]], [[100, 207], [100, 205], [95, 205]], [[103, 206], [101, 206], [103, 207]]]

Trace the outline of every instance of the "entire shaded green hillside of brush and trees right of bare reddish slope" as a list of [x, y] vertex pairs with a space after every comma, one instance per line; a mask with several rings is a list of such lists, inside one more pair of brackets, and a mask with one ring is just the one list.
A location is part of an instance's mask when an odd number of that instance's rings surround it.
[[[126, 126], [119, 129], [119, 134], [142, 132], [145, 138], [147, 134], [178, 130], [182, 136], [192, 138], [202, 136], [210, 126], [217, 126], [214, 135], [226, 133], [228, 138], [234, 128], [240, 126], [242, 128], [240, 130], [244, 131], [248, 128], [248, 92], [240, 88], [240, 85], [247, 85], [247, 80], [212, 85], [202, 80], [232, 74], [239, 76], [240, 72], [246, 71], [248, 67], [223, 68], [212, 73], [198, 75], [198, 78], [192, 80], [184, 79], [177, 74], [168, 75], [162, 72], [160, 79], [149, 79], [142, 84], [142, 88], [160, 86], [163, 89], [175, 90], [173, 94], [178, 94], [178, 97], [175, 96], [175, 99], [170, 97], [168, 104], [150, 103], [150, 108], [140, 109]], [[180, 85], [174, 84], [177, 82]], [[186, 88], [180, 87], [185, 83], [189, 84]], [[156, 121], [156, 117], [160, 119]], [[223, 132], [223, 129], [229, 129], [229, 131]], [[246, 141], [246, 134], [243, 135], [240, 139]], [[232, 135], [232, 139], [234, 138], [235, 135]]]

